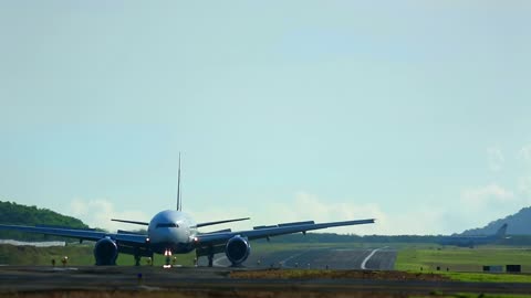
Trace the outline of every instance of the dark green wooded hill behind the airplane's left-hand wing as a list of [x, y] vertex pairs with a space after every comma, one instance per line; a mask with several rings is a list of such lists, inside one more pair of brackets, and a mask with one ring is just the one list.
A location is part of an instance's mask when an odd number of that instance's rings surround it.
[[[20, 205], [14, 202], [0, 201], [0, 224], [14, 225], [54, 225], [72, 228], [87, 228], [82, 221], [65, 216], [48, 209]], [[59, 237], [44, 236], [32, 233], [0, 231], [0, 238], [14, 238], [22, 241], [50, 241]]]

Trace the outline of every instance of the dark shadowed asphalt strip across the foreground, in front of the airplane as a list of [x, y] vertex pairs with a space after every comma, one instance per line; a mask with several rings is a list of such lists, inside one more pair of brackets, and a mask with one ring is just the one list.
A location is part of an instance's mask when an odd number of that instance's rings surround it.
[[[32, 294], [50, 297], [65, 291], [183, 292], [200, 297], [408, 297], [433, 292], [529, 294], [531, 284], [386, 280], [366, 278], [233, 278], [232, 270], [208, 267], [0, 267], [0, 296]], [[262, 269], [269, 270], [269, 269]], [[278, 270], [278, 269], [277, 269]], [[396, 272], [389, 272], [396, 276]], [[145, 296], [143, 294], [143, 296]]]

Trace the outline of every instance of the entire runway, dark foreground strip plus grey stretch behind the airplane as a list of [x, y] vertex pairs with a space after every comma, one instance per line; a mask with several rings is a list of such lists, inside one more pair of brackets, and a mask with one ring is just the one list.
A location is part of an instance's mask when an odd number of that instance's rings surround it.
[[[409, 297], [433, 292], [451, 295], [529, 294], [531, 284], [459, 283], [433, 274], [395, 272], [396, 249], [329, 247], [308, 249], [257, 248], [241, 268], [228, 268], [223, 254], [215, 267], [160, 266], [1, 266], [0, 298], [58, 297]], [[199, 260], [206, 265], [206, 258]], [[292, 270], [299, 268], [303, 270]], [[283, 273], [315, 273], [287, 278]], [[169, 295], [169, 296], [165, 296]], [[74, 295], [72, 295], [74, 296]]]

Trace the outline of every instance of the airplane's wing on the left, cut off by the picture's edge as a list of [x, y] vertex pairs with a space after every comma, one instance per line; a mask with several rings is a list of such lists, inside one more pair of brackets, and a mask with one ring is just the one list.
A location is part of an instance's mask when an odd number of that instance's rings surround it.
[[41, 226], [24, 226], [24, 225], [6, 225], [0, 224], [0, 230], [10, 230], [28, 233], [40, 233], [44, 235], [54, 235], [69, 238], [98, 241], [105, 237], [110, 237], [124, 245], [142, 245], [146, 244], [148, 240], [145, 235], [139, 234], [123, 234], [123, 233], [106, 233], [92, 230], [72, 230], [72, 228], [59, 228], [59, 227], [41, 227]]

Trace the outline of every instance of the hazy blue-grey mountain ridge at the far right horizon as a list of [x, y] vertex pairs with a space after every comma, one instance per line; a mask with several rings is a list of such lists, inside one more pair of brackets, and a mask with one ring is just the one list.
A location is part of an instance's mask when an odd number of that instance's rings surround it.
[[494, 234], [504, 223], [509, 225], [507, 228], [507, 234], [509, 235], [531, 235], [531, 206], [523, 207], [512, 215], [490, 222], [483, 227], [467, 230], [461, 235]]

